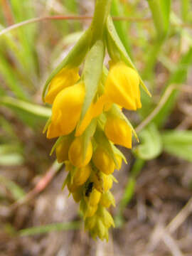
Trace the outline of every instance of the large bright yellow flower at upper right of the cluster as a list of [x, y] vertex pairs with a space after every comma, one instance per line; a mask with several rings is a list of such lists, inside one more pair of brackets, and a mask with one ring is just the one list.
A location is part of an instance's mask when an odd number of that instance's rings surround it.
[[127, 110], [142, 107], [140, 101], [139, 75], [125, 63], [119, 62], [111, 66], [105, 82], [105, 95], [109, 101]]

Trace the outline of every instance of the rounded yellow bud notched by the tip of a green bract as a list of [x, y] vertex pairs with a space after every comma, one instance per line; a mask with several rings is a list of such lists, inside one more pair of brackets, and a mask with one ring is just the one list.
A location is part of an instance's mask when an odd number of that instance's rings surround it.
[[80, 168], [86, 166], [92, 157], [92, 144], [89, 142], [87, 146], [87, 151], [85, 153], [85, 158], [83, 157], [83, 150], [82, 150], [82, 139], [81, 137], [76, 137], [72, 144], [70, 145], [69, 149], [69, 160], [71, 164]]

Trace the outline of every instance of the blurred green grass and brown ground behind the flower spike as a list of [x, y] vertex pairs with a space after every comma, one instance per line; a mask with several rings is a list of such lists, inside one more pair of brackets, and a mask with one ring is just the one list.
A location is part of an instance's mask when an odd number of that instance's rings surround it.
[[[0, 255], [191, 255], [192, 3], [113, 0], [119, 37], [151, 91], [125, 112], [139, 134], [115, 174], [117, 228], [110, 242], [84, 233], [78, 206], [61, 191], [65, 171], [42, 133], [41, 92], [90, 19], [93, 0], [0, 0]], [[4, 32], [4, 33], [3, 33]]]

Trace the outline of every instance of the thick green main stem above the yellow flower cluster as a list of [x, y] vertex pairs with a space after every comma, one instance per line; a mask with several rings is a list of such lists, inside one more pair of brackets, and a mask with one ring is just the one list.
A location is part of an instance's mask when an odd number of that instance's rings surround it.
[[97, 0], [92, 18], [92, 43], [102, 39], [107, 16], [110, 14], [112, 0]]

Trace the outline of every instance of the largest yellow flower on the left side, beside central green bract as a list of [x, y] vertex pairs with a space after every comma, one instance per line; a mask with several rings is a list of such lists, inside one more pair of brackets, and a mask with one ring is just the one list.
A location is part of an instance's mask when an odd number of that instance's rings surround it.
[[84, 97], [83, 82], [67, 87], [58, 93], [53, 102], [51, 122], [47, 132], [48, 139], [73, 132], [80, 119]]

